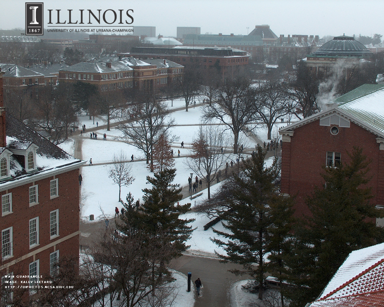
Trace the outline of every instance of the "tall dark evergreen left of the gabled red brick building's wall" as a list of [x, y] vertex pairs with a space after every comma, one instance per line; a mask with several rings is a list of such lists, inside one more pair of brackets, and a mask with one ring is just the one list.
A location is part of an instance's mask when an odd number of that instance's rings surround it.
[[[278, 220], [278, 216], [273, 217], [272, 214], [278, 213], [279, 206], [287, 206], [277, 196], [278, 186], [275, 183], [279, 175], [278, 163], [275, 161], [271, 167], [266, 168], [265, 155], [266, 150], [258, 145], [252, 159], [244, 161], [243, 171], [229, 179], [231, 181], [227, 186], [230, 191], [226, 192], [226, 201], [230, 209], [220, 213], [220, 217], [227, 221], [223, 226], [230, 232], [214, 230], [229, 241], [225, 243], [213, 239], [227, 252], [227, 256], [219, 255], [224, 262], [243, 265], [243, 270], [232, 270], [233, 273], [249, 274], [255, 278], [259, 299], [263, 298], [263, 274], [268, 269], [263, 258], [272, 249], [270, 231], [274, 229], [273, 222]], [[284, 208], [281, 214], [283, 212], [290, 214], [288, 208]]]

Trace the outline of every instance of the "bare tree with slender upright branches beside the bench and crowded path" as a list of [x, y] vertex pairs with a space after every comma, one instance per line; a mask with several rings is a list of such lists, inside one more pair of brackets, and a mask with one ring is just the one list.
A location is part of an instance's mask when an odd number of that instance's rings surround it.
[[186, 164], [200, 177], [207, 180], [208, 199], [210, 199], [210, 184], [215, 180], [215, 174], [221, 170], [226, 162], [225, 155], [221, 152], [225, 147], [223, 131], [217, 125], [200, 126], [192, 143], [190, 157]]

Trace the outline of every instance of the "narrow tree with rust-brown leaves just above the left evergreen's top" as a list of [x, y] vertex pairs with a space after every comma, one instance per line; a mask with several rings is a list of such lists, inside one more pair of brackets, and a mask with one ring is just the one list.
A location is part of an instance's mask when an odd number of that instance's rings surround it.
[[[161, 134], [157, 143], [153, 147], [153, 169], [154, 172], [162, 172], [163, 170], [173, 168], [175, 160], [173, 158], [172, 149], [166, 134]], [[151, 165], [147, 166], [151, 169]]]

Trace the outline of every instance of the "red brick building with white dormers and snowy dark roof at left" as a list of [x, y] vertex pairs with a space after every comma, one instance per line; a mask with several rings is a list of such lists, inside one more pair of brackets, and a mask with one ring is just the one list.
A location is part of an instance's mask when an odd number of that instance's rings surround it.
[[78, 262], [78, 176], [84, 163], [6, 113], [1, 92], [2, 281], [12, 275], [7, 279], [33, 285], [39, 276], [55, 274], [61, 257]]

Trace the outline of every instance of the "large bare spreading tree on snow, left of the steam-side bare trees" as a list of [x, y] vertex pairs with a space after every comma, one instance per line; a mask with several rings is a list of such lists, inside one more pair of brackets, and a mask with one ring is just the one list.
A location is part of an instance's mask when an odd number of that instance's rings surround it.
[[255, 116], [255, 99], [250, 95], [250, 81], [246, 78], [235, 78], [227, 81], [217, 91], [217, 102], [212, 106], [205, 106], [204, 118], [209, 120], [218, 119], [228, 126], [233, 133], [233, 153], [237, 153], [238, 135], [240, 131], [248, 129], [253, 123]]

